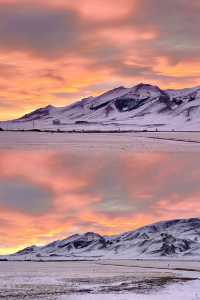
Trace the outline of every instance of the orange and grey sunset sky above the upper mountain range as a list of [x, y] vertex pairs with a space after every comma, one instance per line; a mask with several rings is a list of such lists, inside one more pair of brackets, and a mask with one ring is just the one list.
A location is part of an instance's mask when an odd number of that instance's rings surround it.
[[0, 120], [121, 85], [199, 85], [199, 15], [199, 0], [0, 0]]

